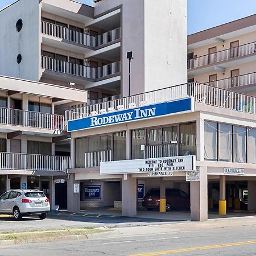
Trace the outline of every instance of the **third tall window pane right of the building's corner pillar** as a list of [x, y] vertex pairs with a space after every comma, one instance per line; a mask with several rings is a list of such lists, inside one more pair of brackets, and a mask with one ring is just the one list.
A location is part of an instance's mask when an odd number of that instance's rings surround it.
[[246, 128], [234, 126], [234, 162], [246, 163]]

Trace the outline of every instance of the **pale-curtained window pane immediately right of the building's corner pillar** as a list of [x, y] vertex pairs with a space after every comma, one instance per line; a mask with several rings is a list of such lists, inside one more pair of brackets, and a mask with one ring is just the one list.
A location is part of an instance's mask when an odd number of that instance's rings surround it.
[[204, 159], [218, 160], [218, 123], [204, 122]]

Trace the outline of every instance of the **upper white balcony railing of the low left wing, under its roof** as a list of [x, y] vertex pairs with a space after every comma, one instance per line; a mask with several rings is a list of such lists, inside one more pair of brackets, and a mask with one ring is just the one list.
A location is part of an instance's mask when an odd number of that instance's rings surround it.
[[64, 115], [0, 108], [0, 124], [63, 131]]

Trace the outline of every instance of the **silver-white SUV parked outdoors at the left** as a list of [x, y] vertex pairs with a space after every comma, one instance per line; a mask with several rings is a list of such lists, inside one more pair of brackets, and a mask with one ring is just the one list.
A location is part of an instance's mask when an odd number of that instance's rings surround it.
[[43, 220], [49, 210], [49, 199], [38, 189], [11, 189], [0, 197], [0, 213], [13, 214], [15, 220], [30, 214]]

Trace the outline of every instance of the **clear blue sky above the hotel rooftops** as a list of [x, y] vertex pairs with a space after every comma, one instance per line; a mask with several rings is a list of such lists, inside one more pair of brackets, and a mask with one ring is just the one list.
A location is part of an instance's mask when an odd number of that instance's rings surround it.
[[[0, 9], [13, 2], [15, 0], [0, 0]], [[92, 0], [79, 2], [93, 3]], [[188, 34], [252, 14], [256, 14], [255, 0], [188, 0]]]

